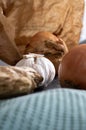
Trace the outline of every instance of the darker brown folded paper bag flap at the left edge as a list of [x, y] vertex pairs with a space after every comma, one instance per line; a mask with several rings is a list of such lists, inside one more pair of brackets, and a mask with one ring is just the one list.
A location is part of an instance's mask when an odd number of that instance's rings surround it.
[[11, 65], [22, 57], [15, 45], [13, 32], [13, 26], [0, 8], [0, 59]]

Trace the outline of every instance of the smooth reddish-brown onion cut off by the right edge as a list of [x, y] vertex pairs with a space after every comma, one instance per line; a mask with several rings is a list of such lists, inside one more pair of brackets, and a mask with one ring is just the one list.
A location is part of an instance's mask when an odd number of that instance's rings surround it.
[[86, 90], [86, 44], [72, 48], [62, 59], [58, 79], [63, 88]]

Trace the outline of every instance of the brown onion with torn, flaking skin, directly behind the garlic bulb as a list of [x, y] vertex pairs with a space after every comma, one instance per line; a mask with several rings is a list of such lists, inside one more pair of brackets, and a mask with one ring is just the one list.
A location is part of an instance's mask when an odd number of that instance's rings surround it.
[[57, 73], [59, 63], [67, 52], [68, 49], [65, 42], [50, 32], [36, 33], [25, 49], [25, 54], [43, 54], [54, 64]]

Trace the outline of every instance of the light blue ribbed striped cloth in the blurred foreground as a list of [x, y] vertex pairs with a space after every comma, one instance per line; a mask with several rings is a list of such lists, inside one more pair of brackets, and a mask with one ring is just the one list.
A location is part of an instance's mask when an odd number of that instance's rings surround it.
[[51, 89], [0, 100], [0, 130], [86, 130], [86, 92]]

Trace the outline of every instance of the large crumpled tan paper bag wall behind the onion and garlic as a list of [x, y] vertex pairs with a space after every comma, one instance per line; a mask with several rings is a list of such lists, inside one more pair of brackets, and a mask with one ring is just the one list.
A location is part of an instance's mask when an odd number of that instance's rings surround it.
[[83, 0], [1, 0], [0, 6], [13, 25], [15, 44], [21, 54], [30, 37], [39, 31], [61, 37], [69, 49], [79, 42]]

